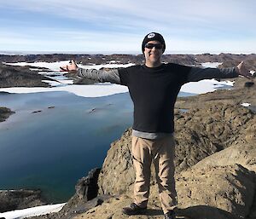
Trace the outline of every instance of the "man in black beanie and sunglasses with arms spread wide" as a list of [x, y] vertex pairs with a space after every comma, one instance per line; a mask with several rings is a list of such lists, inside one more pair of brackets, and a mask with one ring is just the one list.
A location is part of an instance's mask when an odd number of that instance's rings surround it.
[[241, 62], [232, 68], [198, 68], [161, 63], [166, 49], [164, 38], [151, 32], [143, 39], [145, 64], [112, 70], [109, 72], [81, 69], [72, 61], [61, 69], [78, 72], [79, 77], [99, 82], [122, 84], [129, 88], [134, 103], [131, 153], [136, 181], [134, 202], [125, 207], [127, 215], [143, 214], [148, 204], [150, 165], [154, 162], [160, 203], [165, 219], [175, 219], [177, 193], [174, 181], [174, 104], [181, 86], [191, 81], [207, 78], [249, 77], [249, 71]]

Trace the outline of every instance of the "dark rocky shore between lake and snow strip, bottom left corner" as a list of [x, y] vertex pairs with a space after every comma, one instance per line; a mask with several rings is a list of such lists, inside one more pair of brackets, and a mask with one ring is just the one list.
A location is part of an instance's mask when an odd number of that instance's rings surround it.
[[0, 190], [0, 212], [45, 205], [40, 190]]

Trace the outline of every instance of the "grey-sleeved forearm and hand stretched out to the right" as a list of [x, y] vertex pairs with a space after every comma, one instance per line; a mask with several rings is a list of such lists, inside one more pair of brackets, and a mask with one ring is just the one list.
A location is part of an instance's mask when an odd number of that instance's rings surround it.
[[250, 71], [244, 66], [243, 61], [236, 67], [225, 67], [225, 68], [200, 68], [192, 67], [189, 76], [188, 82], [200, 81], [202, 79], [212, 79], [212, 78], [236, 78], [239, 75], [252, 78]]

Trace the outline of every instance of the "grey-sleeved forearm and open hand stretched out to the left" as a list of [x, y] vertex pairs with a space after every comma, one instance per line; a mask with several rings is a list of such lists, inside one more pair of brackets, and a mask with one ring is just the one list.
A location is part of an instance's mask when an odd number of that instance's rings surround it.
[[79, 68], [75, 61], [71, 61], [67, 66], [61, 66], [61, 71], [77, 73], [80, 78], [88, 78], [98, 82], [110, 82], [113, 84], [120, 84], [119, 71], [114, 69], [110, 71], [84, 69]]

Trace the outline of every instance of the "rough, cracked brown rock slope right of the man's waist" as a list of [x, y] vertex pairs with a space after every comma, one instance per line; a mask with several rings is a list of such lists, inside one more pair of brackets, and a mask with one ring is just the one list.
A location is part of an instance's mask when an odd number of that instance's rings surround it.
[[213, 153], [246, 136], [253, 112], [241, 106], [206, 104], [176, 118], [177, 172], [186, 170]]

